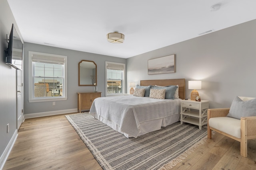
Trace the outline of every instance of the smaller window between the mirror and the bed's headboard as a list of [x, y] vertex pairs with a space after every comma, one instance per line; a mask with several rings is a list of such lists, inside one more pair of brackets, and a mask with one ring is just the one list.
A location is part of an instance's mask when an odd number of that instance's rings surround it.
[[125, 64], [106, 61], [106, 96], [124, 94]]

